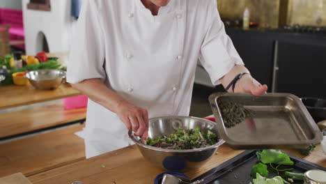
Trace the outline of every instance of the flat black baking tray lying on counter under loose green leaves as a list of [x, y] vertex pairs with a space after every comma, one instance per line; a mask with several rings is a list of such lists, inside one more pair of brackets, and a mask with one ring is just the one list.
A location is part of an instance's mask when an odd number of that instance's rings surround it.
[[[325, 167], [322, 167], [318, 164], [303, 160], [301, 158], [294, 157], [289, 155], [290, 159], [294, 162], [292, 166], [293, 170], [291, 172], [295, 173], [304, 173], [312, 169], [318, 169], [326, 171]], [[258, 158], [256, 156], [256, 150], [249, 150], [240, 153], [239, 155], [231, 158], [219, 166], [211, 169], [210, 171], [202, 174], [201, 176], [194, 178], [192, 181], [201, 181], [202, 184], [228, 184], [228, 183], [243, 183], [247, 184], [252, 182], [254, 178], [251, 178], [250, 171], [251, 168], [257, 164]], [[270, 173], [270, 176], [274, 177], [277, 174]], [[297, 182], [293, 184], [299, 184], [302, 182]]]

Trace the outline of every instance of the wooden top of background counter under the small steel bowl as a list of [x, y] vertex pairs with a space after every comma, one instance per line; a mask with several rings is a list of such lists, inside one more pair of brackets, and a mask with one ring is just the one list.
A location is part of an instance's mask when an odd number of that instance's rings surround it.
[[0, 109], [31, 105], [33, 103], [57, 100], [81, 93], [70, 86], [62, 84], [58, 89], [43, 91], [34, 89], [33, 86], [1, 86], [0, 87]]

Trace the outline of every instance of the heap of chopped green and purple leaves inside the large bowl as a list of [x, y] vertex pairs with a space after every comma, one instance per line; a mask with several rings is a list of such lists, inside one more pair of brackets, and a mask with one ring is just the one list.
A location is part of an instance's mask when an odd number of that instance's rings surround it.
[[211, 146], [218, 140], [219, 137], [212, 131], [208, 130], [205, 133], [201, 128], [196, 127], [190, 130], [179, 128], [171, 135], [159, 136], [156, 139], [148, 138], [145, 144], [157, 148], [184, 150]]

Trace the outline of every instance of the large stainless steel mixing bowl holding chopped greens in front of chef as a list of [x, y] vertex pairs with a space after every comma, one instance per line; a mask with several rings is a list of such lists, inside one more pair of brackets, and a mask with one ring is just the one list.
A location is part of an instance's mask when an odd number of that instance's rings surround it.
[[[196, 126], [199, 126], [203, 131], [211, 130], [218, 135], [217, 125], [212, 121], [188, 116], [166, 116], [150, 118], [148, 137], [156, 138], [176, 132], [178, 128], [192, 129]], [[130, 139], [137, 144], [144, 158], [156, 166], [170, 171], [199, 169], [215, 154], [217, 148], [224, 143], [224, 140], [220, 139], [217, 144], [205, 148], [171, 150], [142, 144], [139, 142], [140, 138], [134, 136], [132, 131], [129, 131], [128, 134]]]

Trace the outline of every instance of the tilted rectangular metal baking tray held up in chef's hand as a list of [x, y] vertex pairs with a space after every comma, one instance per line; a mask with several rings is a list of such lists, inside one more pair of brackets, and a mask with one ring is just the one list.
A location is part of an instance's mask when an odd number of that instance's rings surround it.
[[[323, 140], [315, 121], [295, 95], [214, 93], [209, 100], [219, 135], [233, 148], [305, 148]], [[225, 100], [240, 103], [254, 110], [255, 115], [226, 128], [218, 105]]]

